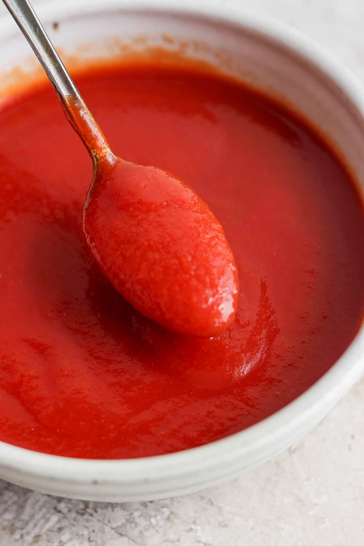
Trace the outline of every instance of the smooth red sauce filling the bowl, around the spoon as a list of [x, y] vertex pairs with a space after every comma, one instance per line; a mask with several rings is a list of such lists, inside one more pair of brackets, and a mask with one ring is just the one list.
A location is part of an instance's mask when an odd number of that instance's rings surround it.
[[182, 336], [116, 292], [82, 233], [87, 152], [51, 88], [23, 96], [0, 112], [0, 439], [124, 458], [258, 422], [359, 327], [364, 213], [347, 171], [305, 124], [218, 76], [139, 66], [77, 84], [112, 149], [186, 181], [223, 225], [236, 319]]

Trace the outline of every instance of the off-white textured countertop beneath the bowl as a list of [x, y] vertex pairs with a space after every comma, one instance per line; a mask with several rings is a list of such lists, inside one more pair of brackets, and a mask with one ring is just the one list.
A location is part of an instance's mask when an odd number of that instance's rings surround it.
[[[310, 34], [364, 80], [364, 0], [239, 1]], [[0, 546], [362, 546], [363, 401], [364, 380], [295, 446], [195, 495], [92, 503], [0, 480]]]

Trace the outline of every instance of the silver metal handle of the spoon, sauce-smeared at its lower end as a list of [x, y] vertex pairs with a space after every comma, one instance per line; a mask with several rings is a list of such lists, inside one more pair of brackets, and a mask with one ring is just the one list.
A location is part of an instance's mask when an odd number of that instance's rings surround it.
[[67, 72], [28, 0], [3, 0], [43, 66], [63, 106], [65, 115], [85, 144], [94, 163], [115, 157], [85, 101]]

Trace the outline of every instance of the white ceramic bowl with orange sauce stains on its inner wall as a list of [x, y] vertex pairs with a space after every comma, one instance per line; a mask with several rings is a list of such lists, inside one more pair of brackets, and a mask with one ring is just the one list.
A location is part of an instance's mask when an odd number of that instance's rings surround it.
[[[290, 103], [311, 120], [343, 155], [362, 192], [363, 89], [299, 33], [275, 21], [256, 19], [240, 8], [231, 10], [211, 2], [198, 5], [195, 0], [179, 4], [168, 0], [63, 0], [41, 5], [38, 13], [65, 57], [77, 54], [81, 62], [120, 53], [120, 41], [116, 43], [115, 38], [144, 48], [145, 41], [134, 38], [147, 35], [149, 45], [172, 50], [179, 40], [187, 41], [186, 54], [218, 64]], [[57, 30], [53, 22], [59, 23]], [[1, 97], [11, 91], [9, 82], [15, 74], [11, 69], [21, 66], [26, 73], [37, 61], [29, 61], [29, 46], [8, 18], [0, 21], [0, 37]], [[80, 49], [90, 37], [94, 43]], [[150, 500], [195, 491], [287, 448], [331, 410], [363, 370], [362, 327], [342, 357], [304, 394], [271, 417], [223, 440], [169, 455], [109, 461], [46, 455], [0, 442], [0, 477], [55, 495], [99, 501]]]

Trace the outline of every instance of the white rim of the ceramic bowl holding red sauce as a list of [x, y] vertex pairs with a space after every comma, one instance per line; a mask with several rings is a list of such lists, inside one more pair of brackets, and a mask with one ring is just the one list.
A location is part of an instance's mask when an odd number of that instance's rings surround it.
[[[54, 0], [37, 4], [42, 22], [66, 20], [100, 12], [130, 10], [170, 15], [201, 16], [207, 20], [238, 25], [275, 39], [285, 49], [306, 58], [329, 75], [344, 90], [364, 118], [364, 87], [359, 79], [321, 49], [311, 38], [271, 17], [248, 13], [240, 5], [226, 5], [216, 0], [88, 0], [79, 4], [74, 0]], [[19, 32], [9, 25], [8, 18], [0, 20], [0, 36], [4, 41]], [[311, 387], [281, 410], [248, 428], [220, 440], [180, 452], [138, 459], [76, 459], [35, 452], [0, 441], [0, 466], [32, 476], [67, 480], [78, 483], [132, 483], [141, 480], [183, 478], [188, 473], [206, 471], [215, 465], [247, 456], [257, 449], [277, 442], [290, 431], [300, 428], [313, 414], [326, 413], [360, 378], [364, 371], [364, 324], [361, 323], [354, 340], [335, 364]], [[96, 484], [97, 485], [97, 484]]]

